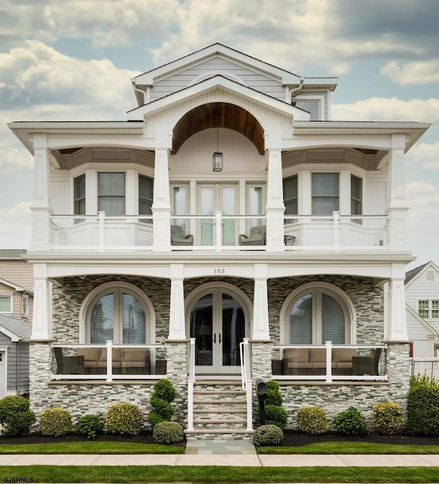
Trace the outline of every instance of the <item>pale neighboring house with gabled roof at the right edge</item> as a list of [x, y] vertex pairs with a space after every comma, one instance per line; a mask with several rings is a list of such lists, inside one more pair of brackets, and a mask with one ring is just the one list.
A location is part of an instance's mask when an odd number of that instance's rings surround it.
[[427, 262], [405, 277], [407, 334], [414, 358], [439, 356], [439, 267]]

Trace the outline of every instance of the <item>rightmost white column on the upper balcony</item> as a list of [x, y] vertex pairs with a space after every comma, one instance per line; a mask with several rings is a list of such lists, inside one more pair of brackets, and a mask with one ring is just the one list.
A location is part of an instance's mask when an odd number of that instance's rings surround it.
[[388, 245], [391, 250], [407, 249], [404, 170], [405, 135], [392, 135], [392, 148], [389, 153], [388, 181]]

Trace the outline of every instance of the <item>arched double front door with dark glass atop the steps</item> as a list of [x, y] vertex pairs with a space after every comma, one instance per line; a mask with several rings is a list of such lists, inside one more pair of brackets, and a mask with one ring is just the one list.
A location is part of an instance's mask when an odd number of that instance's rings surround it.
[[191, 312], [190, 334], [196, 373], [240, 373], [239, 343], [246, 336], [246, 321], [234, 297], [217, 289], [199, 299]]

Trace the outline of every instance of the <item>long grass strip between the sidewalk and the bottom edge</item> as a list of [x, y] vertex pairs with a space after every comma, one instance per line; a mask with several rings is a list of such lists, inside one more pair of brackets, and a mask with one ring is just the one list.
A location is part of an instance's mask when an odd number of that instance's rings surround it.
[[216, 466], [59, 466], [0, 467], [0, 479], [44, 483], [437, 483], [439, 468], [254, 468]]

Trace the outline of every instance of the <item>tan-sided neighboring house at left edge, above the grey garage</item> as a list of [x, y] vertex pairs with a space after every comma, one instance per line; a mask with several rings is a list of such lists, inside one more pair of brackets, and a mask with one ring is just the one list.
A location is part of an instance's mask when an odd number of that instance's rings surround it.
[[34, 270], [25, 249], [0, 249], [0, 314], [32, 323]]

